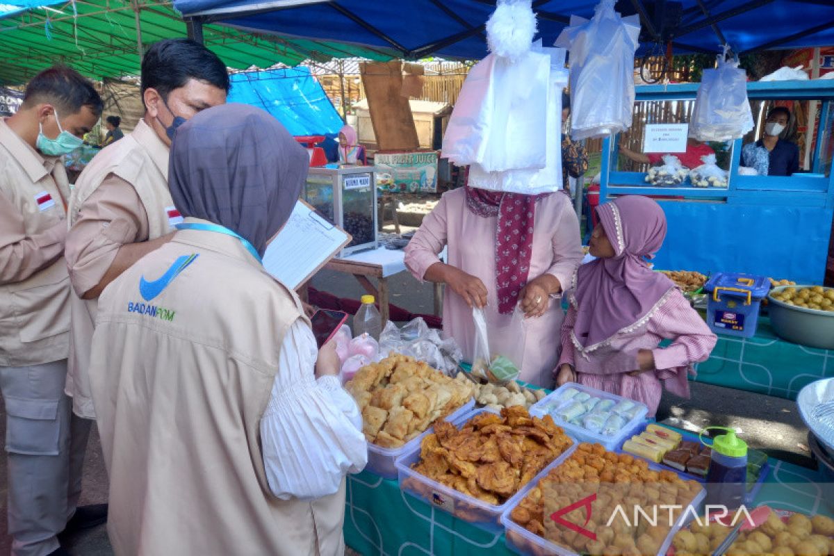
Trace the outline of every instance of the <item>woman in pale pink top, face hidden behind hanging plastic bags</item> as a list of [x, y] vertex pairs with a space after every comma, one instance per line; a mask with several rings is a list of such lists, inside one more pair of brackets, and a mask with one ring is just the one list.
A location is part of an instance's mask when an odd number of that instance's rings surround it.
[[[438, 258], [445, 247], [448, 264]], [[414, 278], [446, 284], [443, 333], [467, 361], [475, 348], [472, 308], [484, 308], [492, 353], [514, 351], [519, 378], [545, 387], [559, 357], [553, 338], [563, 314], [556, 296], [581, 260], [579, 223], [566, 195], [468, 185], [444, 193], [405, 248]]]

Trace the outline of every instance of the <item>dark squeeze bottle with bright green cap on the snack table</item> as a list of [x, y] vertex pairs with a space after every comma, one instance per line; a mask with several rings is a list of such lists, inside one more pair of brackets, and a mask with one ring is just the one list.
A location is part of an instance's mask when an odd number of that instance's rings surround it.
[[706, 472], [706, 503], [735, 509], [744, 503], [747, 488], [747, 443], [736, 436], [733, 428], [707, 427], [701, 436], [711, 429], [726, 434], [712, 441], [710, 468]]

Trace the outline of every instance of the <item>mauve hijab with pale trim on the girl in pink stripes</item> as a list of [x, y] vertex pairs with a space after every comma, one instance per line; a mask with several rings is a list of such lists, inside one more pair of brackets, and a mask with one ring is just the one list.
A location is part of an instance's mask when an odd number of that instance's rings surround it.
[[666, 238], [666, 216], [655, 201], [628, 195], [596, 208], [615, 257], [580, 266], [571, 302], [576, 308], [574, 341], [592, 351], [623, 328], [646, 317], [675, 288], [649, 268]]

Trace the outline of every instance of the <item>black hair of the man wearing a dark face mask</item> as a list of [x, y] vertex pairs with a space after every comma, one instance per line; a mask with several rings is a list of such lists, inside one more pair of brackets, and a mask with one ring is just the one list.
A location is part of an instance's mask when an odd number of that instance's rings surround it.
[[229, 73], [217, 54], [188, 38], [171, 38], [153, 43], [142, 58], [142, 96], [148, 88], [163, 100], [174, 89], [197, 79], [229, 93]]

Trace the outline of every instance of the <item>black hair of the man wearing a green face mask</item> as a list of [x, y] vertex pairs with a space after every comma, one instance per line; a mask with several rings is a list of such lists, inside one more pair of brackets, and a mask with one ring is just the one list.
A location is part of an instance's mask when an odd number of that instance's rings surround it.
[[93, 83], [68, 66], [53, 66], [38, 73], [23, 93], [23, 108], [39, 103], [53, 104], [61, 118], [77, 114], [82, 107], [98, 118], [104, 105]]

